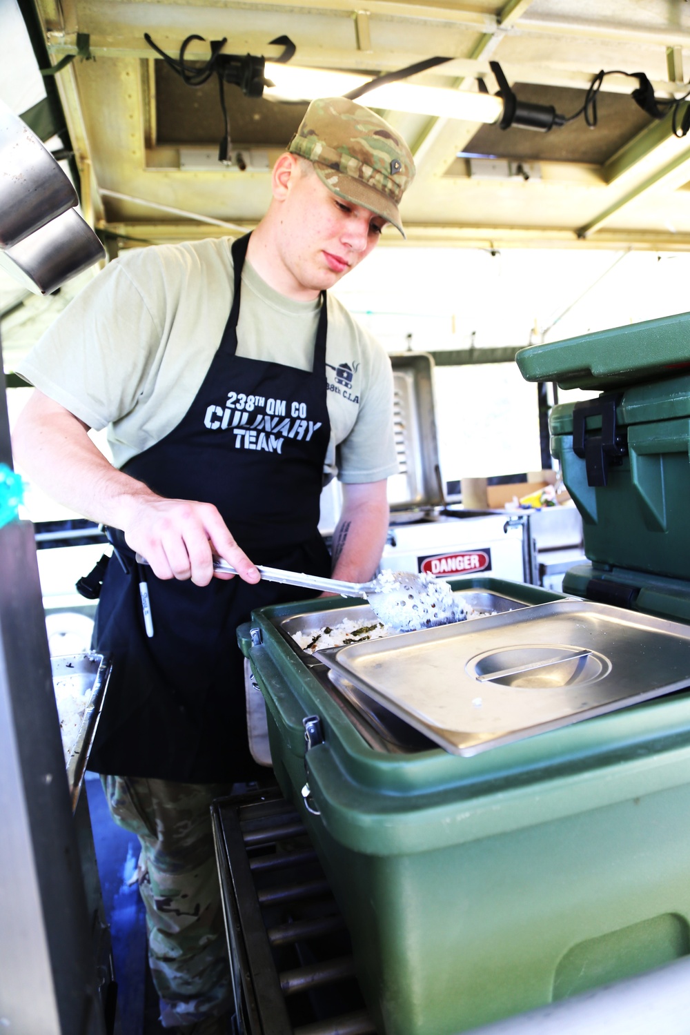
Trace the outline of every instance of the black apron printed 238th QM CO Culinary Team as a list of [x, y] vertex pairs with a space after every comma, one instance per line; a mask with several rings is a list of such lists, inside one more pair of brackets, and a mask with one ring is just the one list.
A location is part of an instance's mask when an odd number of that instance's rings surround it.
[[[326, 293], [310, 373], [236, 355], [247, 243], [248, 235], [232, 246], [233, 305], [197, 397], [123, 471], [160, 496], [215, 504], [254, 563], [328, 575], [317, 529], [330, 436]], [[148, 569], [149, 638], [132, 552], [119, 553], [128, 571], [111, 560], [96, 615], [94, 649], [113, 659], [113, 673], [89, 768], [191, 782], [252, 778], [260, 770], [248, 750], [235, 630], [253, 608], [313, 593], [239, 578], [200, 587]]]

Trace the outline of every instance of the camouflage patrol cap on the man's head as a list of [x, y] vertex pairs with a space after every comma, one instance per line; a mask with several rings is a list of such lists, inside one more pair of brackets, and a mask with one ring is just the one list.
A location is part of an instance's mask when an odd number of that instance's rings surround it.
[[415, 162], [384, 119], [347, 97], [322, 97], [307, 108], [288, 150], [312, 161], [333, 194], [381, 215], [404, 237], [397, 206]]

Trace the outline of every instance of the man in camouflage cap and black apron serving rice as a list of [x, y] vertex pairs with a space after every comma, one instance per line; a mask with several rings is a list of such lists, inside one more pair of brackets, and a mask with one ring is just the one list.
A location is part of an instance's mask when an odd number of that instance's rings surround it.
[[[413, 175], [383, 119], [313, 101], [253, 233], [128, 250], [21, 364], [36, 388], [14, 431], [23, 469], [116, 546], [94, 630], [113, 675], [90, 768], [142, 844], [167, 1029], [224, 1032], [231, 1007], [209, 805], [266, 772], [248, 749], [235, 629], [300, 596], [254, 563], [360, 582], [381, 557], [397, 471], [390, 362], [326, 292], [386, 223], [402, 233]], [[88, 436], [102, 427], [112, 464]], [[331, 558], [317, 525], [336, 473]], [[148, 614], [137, 554], [152, 571]], [[214, 555], [240, 578], [213, 578]]]

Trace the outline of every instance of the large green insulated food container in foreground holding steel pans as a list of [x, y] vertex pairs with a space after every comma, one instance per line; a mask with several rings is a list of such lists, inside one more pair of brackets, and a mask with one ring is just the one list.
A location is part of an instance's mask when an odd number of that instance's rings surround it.
[[[480, 583], [557, 599], [452, 585]], [[342, 608], [262, 609], [239, 637], [380, 1035], [456, 1035], [690, 952], [688, 692], [472, 758], [406, 746], [286, 632]]]

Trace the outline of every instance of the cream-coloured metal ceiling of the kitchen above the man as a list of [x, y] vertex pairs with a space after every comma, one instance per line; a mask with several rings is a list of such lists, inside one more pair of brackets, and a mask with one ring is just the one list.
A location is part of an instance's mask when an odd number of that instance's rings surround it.
[[[54, 63], [76, 53], [78, 32], [89, 34], [95, 60], [78, 58], [56, 77], [85, 210], [106, 232], [134, 240], [229, 230], [218, 224], [252, 226], [270, 200], [269, 172], [261, 166], [270, 168], [295, 122], [294, 111], [245, 101], [236, 87], [227, 87], [233, 140], [261, 154], [244, 170], [216, 167], [212, 154], [222, 119], [215, 80], [202, 90], [184, 87], [163, 68], [145, 32], [175, 57], [187, 35], [204, 36], [187, 52], [196, 60], [206, 60], [209, 40], [223, 37], [226, 53], [276, 57], [281, 48], [270, 40], [288, 34], [297, 46], [296, 62], [371, 75], [441, 54], [452, 62], [418, 81], [463, 90], [477, 89], [481, 77], [494, 92], [488, 61], [498, 60], [517, 84], [518, 97], [557, 98], [559, 110], [566, 97], [581, 97], [600, 68], [644, 71], [659, 97], [681, 95], [676, 80], [683, 77], [684, 59], [685, 79], [690, 75], [690, 48], [683, 49], [690, 4], [667, 0], [468, 0], [467, 7], [451, 0], [371, 0], [366, 12], [349, 0], [35, 3]], [[401, 205], [409, 239], [467, 246], [496, 240], [502, 246], [650, 248], [667, 247], [669, 240], [690, 246], [690, 190], [683, 189], [690, 181], [690, 138], [674, 139], [668, 120], [651, 122], [621, 96], [636, 85], [607, 78], [596, 128], [579, 119], [548, 135], [388, 115], [418, 166]], [[480, 144], [482, 153], [513, 161], [506, 161], [505, 175], [469, 175], [458, 165], [458, 152]], [[206, 157], [193, 148], [205, 149]], [[539, 167], [529, 180], [514, 173], [520, 161]], [[391, 245], [397, 240], [384, 237]]]

